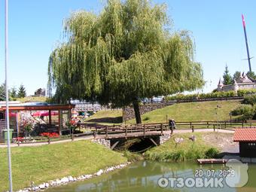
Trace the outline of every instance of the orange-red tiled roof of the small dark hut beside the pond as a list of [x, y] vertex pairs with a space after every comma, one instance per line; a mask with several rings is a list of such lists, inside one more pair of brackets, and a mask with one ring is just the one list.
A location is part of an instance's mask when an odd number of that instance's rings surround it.
[[233, 142], [256, 142], [256, 128], [237, 128]]

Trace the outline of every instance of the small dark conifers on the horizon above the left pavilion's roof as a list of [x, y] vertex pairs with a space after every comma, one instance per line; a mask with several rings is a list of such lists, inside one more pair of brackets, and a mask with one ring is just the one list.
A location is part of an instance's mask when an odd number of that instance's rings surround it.
[[[9, 90], [9, 100], [16, 100], [17, 98], [26, 97], [26, 88], [23, 84], [20, 84], [19, 89], [11, 87]], [[5, 101], [5, 84], [0, 85], [0, 101]]]

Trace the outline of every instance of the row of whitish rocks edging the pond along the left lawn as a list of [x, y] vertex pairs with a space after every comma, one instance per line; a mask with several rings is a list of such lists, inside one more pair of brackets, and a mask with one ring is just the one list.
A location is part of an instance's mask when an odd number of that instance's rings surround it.
[[87, 180], [89, 178], [93, 178], [93, 177], [102, 175], [104, 173], [114, 171], [116, 169], [122, 169], [123, 167], [128, 166], [130, 163], [131, 162], [127, 162], [127, 163], [123, 163], [123, 164], [120, 164], [120, 165], [117, 165], [117, 166], [111, 166], [111, 167], [108, 167], [106, 169], [99, 169], [98, 172], [95, 172], [94, 174], [90, 174], [90, 175], [80, 175], [78, 177], [72, 177], [70, 175], [70, 176], [66, 176], [66, 177], [63, 177], [63, 178], [57, 178], [55, 180], [51, 180], [51, 181], [48, 181], [48, 182], [45, 182], [45, 183], [42, 183], [42, 184], [38, 184], [38, 185], [34, 185], [34, 183], [32, 182], [31, 187], [27, 187], [27, 188], [24, 188], [24, 189], [21, 189], [21, 190], [17, 190], [17, 192], [40, 191], [40, 190], [45, 190], [49, 187], [57, 187], [57, 186], [61, 186], [61, 185], [64, 185], [64, 184], [69, 184], [69, 183], [72, 183], [72, 182], [75, 182], [75, 181], [84, 181], [84, 180]]

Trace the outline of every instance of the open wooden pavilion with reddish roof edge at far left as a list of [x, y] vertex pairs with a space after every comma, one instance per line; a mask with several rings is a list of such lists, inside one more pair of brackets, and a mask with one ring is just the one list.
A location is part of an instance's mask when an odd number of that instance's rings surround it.
[[[62, 134], [63, 127], [63, 116], [66, 117], [66, 120], [71, 120], [72, 118], [72, 108], [75, 108], [75, 105], [56, 105], [56, 104], [47, 104], [47, 103], [26, 103], [26, 104], [18, 104], [18, 105], [10, 105], [9, 106], [9, 117], [16, 118], [16, 125], [12, 126], [14, 133], [17, 133], [19, 136], [20, 126], [19, 124], [19, 114], [23, 111], [35, 111], [34, 115], [44, 115], [48, 116], [47, 124], [44, 124], [45, 127], [49, 129], [55, 129], [59, 135]], [[5, 129], [5, 115], [6, 115], [6, 106], [2, 105], [0, 107], [0, 139], [3, 138], [2, 130]], [[52, 116], [58, 116], [57, 122], [53, 122]]]

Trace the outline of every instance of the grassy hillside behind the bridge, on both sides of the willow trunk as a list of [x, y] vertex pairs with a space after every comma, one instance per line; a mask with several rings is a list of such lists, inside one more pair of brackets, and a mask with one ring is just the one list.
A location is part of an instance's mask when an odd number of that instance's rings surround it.
[[[216, 114], [217, 105], [218, 117]], [[230, 120], [230, 111], [238, 107], [238, 100], [213, 101], [213, 102], [184, 102], [170, 105], [166, 108], [160, 108], [142, 115], [142, 123], [160, 123], [166, 122], [168, 118], [175, 121], [199, 121], [199, 120]], [[98, 111], [87, 121], [88, 123], [121, 123], [122, 112], [116, 111]], [[136, 120], [129, 120], [126, 123], [135, 123]]]

